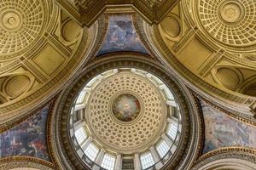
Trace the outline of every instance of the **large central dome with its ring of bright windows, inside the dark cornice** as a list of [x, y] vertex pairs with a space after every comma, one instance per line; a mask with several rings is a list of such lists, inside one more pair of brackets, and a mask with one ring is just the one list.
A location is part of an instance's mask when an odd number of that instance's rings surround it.
[[134, 167], [160, 168], [176, 151], [179, 106], [172, 89], [153, 74], [136, 68], [105, 71], [77, 96], [70, 134], [90, 167], [122, 169], [135, 161]]

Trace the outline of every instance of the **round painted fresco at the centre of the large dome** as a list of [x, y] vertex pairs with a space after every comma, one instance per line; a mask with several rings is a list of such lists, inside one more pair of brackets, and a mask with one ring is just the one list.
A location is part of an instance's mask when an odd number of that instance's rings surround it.
[[136, 97], [131, 94], [120, 94], [113, 100], [113, 116], [119, 121], [131, 122], [137, 118], [141, 111], [141, 106]]

